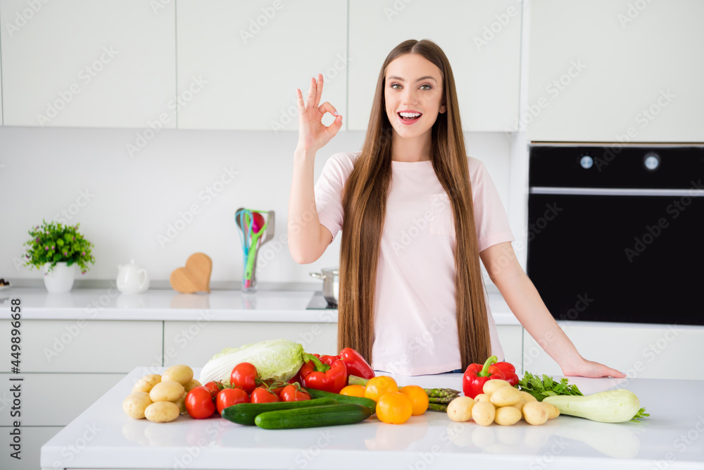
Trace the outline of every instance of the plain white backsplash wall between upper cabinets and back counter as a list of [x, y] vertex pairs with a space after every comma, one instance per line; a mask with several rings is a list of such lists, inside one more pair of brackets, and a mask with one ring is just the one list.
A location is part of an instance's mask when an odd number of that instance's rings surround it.
[[[285, 242], [276, 249], [286, 233], [296, 132], [161, 130], [130, 156], [127, 144], [137, 144], [138, 132], [144, 130], [0, 127], [1, 278], [41, 278], [39, 271], [17, 265], [27, 230], [45, 218], [80, 222], [94, 243], [96, 264], [80, 279], [114, 279], [118, 264], [134, 258], [153, 280], [168, 280], [189, 254], [204, 252], [213, 259], [211, 280], [239, 284], [239, 206], [277, 214], [268, 244], [272, 259], [257, 268], [260, 282], [308, 282], [308, 272], [337, 266], [340, 237], [308, 266], [291, 259]], [[484, 161], [508, 208], [510, 135], [465, 137], [468, 153]], [[357, 151], [363, 138], [364, 132], [340, 132], [318, 153], [316, 178], [330, 155]], [[208, 187], [223, 177], [228, 181], [223, 168], [239, 173], [210, 197]], [[158, 235], [166, 237], [168, 226], [194, 204], [199, 214], [161, 244]]]

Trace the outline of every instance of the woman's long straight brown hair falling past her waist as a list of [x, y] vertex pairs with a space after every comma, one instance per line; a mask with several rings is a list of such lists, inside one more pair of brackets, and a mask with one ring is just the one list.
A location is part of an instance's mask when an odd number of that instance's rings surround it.
[[371, 364], [379, 242], [391, 181], [393, 130], [384, 105], [384, 73], [386, 66], [403, 54], [420, 54], [434, 63], [443, 77], [446, 112], [438, 114], [432, 127], [430, 153], [435, 174], [450, 198], [455, 222], [457, 328], [462, 369], [465, 369], [472, 362], [483, 363], [491, 355], [489, 323], [455, 80], [442, 49], [427, 39], [404, 41], [386, 56], [362, 152], [345, 184], [337, 345], [338, 350], [353, 347]]

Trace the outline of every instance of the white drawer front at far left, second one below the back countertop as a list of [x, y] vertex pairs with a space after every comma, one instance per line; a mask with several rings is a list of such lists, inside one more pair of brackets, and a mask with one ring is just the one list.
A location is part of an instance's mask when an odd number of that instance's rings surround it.
[[[14, 374], [0, 373], [1, 424], [9, 425], [12, 397], [9, 383], [20, 383], [23, 426], [66, 426], [125, 377], [123, 373], [27, 373], [21, 382], [10, 382]], [[122, 402], [115, 403], [120, 409]], [[7, 467], [2, 467], [7, 468]]]

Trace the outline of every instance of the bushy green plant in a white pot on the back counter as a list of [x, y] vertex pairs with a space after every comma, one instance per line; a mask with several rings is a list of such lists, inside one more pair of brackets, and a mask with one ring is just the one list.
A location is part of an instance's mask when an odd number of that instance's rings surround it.
[[88, 265], [95, 263], [91, 254], [94, 245], [78, 232], [79, 225], [42, 221], [41, 226], [29, 231], [31, 238], [25, 242], [25, 266], [44, 271], [44, 285], [49, 292], [70, 291], [76, 266], [80, 266], [81, 273], [85, 274]]

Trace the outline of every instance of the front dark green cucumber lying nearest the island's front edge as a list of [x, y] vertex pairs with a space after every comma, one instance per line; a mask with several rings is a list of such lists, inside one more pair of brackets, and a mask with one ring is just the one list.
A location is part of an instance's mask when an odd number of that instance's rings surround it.
[[361, 404], [324, 404], [262, 413], [254, 419], [254, 423], [264, 429], [315, 428], [359, 423], [369, 416], [372, 416], [372, 410]]

